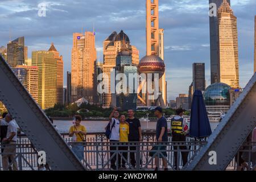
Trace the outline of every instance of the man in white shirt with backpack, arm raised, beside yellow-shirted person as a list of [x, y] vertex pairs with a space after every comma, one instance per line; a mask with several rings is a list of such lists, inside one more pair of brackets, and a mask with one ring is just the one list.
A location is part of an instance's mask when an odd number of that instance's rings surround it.
[[[119, 112], [117, 107], [114, 107], [114, 110], [109, 116], [109, 124], [106, 127], [106, 137], [110, 140], [110, 151], [116, 151], [118, 148], [117, 146], [113, 146], [115, 142], [119, 142]], [[113, 143], [114, 142], [114, 143]], [[110, 158], [114, 155], [114, 152], [110, 152]], [[113, 156], [111, 159], [111, 166], [110, 169], [115, 170], [117, 166], [115, 165], [115, 160], [117, 156]]]

